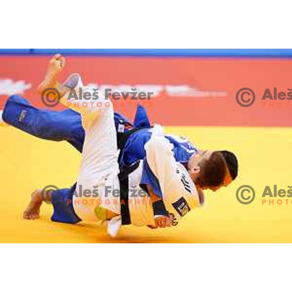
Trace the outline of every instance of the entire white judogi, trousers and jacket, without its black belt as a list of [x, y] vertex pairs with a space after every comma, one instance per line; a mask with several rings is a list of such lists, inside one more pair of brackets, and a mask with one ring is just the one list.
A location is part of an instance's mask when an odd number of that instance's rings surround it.
[[[91, 92], [92, 88], [85, 88], [81, 79], [76, 86], [76, 92]], [[118, 150], [116, 145], [116, 130], [113, 120], [113, 107], [110, 100], [102, 94], [99, 98], [86, 100], [69, 99], [65, 95], [61, 102], [73, 110], [81, 113], [82, 125], [85, 130], [85, 142], [82, 151], [76, 191], [79, 198], [73, 198], [76, 214], [83, 220], [96, 220], [92, 201], [99, 200], [104, 208], [120, 214], [119, 197], [111, 190], [119, 190]], [[97, 106], [99, 102], [102, 107]], [[157, 178], [163, 195], [164, 205], [171, 214], [172, 224], [177, 222], [191, 209], [200, 206], [195, 184], [187, 170], [175, 161], [173, 145], [164, 137], [161, 126], [155, 126], [150, 140], [145, 145], [146, 161], [152, 173]], [[143, 161], [139, 167], [128, 176], [129, 189], [137, 189], [136, 194], [143, 193], [140, 187]], [[81, 186], [81, 188], [80, 188]], [[85, 189], [87, 194], [85, 195]], [[98, 198], [94, 191], [98, 189]], [[108, 190], [106, 190], [108, 189]], [[82, 191], [81, 191], [82, 190]], [[91, 196], [88, 193], [91, 192]], [[131, 196], [131, 193], [130, 193]], [[136, 226], [153, 225], [154, 214], [151, 200], [148, 196], [129, 197], [129, 212], [131, 223]]]

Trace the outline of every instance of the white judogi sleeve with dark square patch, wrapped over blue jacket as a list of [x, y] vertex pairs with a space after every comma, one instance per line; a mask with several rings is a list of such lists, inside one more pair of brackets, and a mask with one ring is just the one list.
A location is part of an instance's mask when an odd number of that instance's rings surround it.
[[155, 126], [145, 145], [147, 163], [159, 181], [166, 210], [177, 225], [185, 214], [200, 206], [194, 182], [185, 167], [176, 162], [173, 145], [164, 137], [163, 128]]

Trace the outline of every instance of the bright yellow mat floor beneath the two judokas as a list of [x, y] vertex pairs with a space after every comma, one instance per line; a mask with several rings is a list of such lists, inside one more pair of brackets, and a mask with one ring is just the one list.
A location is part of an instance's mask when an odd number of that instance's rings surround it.
[[[285, 190], [292, 185], [292, 128], [171, 127], [166, 131], [189, 137], [201, 148], [234, 151], [239, 158], [238, 179], [228, 188], [207, 192], [205, 206], [189, 213], [178, 226], [160, 230], [127, 226], [110, 238], [92, 223], [50, 221], [52, 207], [47, 204], [40, 219], [22, 219], [34, 189], [74, 183], [80, 154], [66, 142], [40, 140], [0, 126], [0, 242], [292, 242], [291, 200], [287, 205], [262, 205], [261, 198], [266, 185]], [[248, 205], [236, 199], [243, 184], [256, 190], [255, 201]]]

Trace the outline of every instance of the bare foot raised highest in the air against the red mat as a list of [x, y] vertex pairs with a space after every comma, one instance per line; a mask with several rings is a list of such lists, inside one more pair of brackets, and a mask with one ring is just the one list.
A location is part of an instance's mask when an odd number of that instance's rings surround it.
[[59, 74], [62, 72], [66, 64], [66, 59], [61, 54], [56, 54], [48, 64], [45, 79], [37, 87], [37, 91], [42, 93], [45, 89], [54, 87], [57, 83]]

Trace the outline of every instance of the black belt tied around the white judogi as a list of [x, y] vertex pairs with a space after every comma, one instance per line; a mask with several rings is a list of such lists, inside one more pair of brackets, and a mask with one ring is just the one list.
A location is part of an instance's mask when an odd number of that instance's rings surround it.
[[120, 205], [122, 225], [131, 224], [131, 217], [129, 211], [129, 174], [135, 171], [140, 164], [140, 161], [135, 162], [130, 166], [123, 167], [118, 174], [120, 182]]

